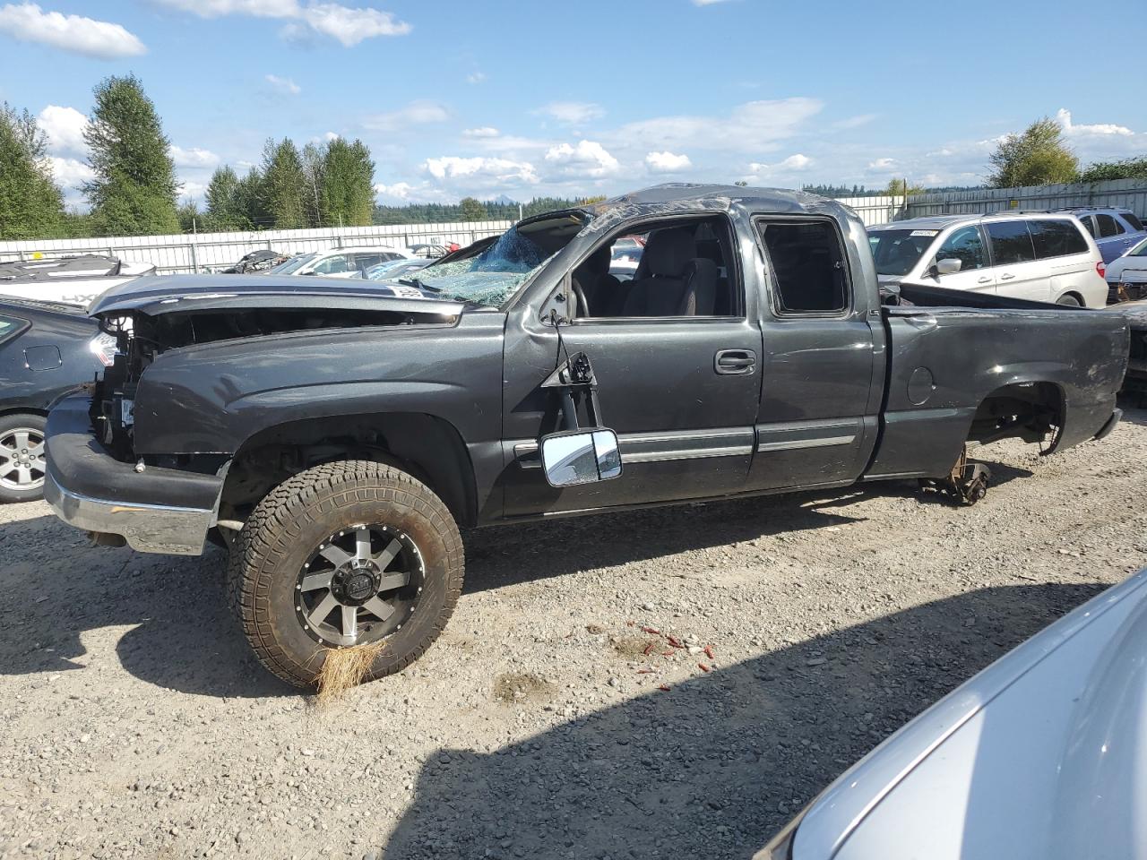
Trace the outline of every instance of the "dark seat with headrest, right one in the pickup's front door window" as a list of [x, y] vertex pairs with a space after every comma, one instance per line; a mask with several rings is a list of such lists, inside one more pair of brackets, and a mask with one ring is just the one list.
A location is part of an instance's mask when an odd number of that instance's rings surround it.
[[693, 230], [655, 230], [630, 281], [624, 316], [712, 316], [717, 264], [697, 256]]

